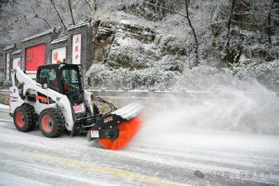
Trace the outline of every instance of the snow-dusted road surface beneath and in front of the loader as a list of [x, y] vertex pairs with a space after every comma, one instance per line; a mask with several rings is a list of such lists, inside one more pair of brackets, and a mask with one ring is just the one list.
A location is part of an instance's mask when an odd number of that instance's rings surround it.
[[0, 109], [0, 185], [279, 185], [279, 136], [189, 128], [111, 151], [18, 132]]

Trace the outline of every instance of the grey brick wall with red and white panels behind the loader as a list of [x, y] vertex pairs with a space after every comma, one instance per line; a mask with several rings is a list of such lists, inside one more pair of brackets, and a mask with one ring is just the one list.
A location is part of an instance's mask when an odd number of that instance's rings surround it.
[[63, 33], [54, 28], [23, 38], [21, 49], [15, 45], [6, 47], [3, 50], [6, 78], [10, 79], [10, 71], [16, 65], [32, 79], [36, 78], [39, 65], [49, 63], [80, 64], [86, 72], [93, 61], [92, 32], [91, 20], [87, 20], [70, 25]]

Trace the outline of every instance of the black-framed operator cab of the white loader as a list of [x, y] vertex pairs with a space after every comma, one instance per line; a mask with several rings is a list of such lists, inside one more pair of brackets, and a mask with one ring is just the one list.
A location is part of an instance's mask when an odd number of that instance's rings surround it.
[[66, 95], [72, 104], [84, 100], [81, 65], [67, 63], [47, 64], [38, 67], [36, 82]]

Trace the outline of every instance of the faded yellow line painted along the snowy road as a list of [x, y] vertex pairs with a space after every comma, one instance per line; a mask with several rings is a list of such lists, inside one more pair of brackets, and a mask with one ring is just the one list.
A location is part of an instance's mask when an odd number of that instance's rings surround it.
[[123, 171], [121, 169], [114, 169], [114, 168], [106, 167], [106, 166], [98, 166], [96, 164], [81, 162], [81, 161], [77, 161], [77, 160], [71, 160], [71, 159], [64, 158], [64, 157], [56, 157], [56, 156], [52, 156], [52, 155], [43, 155], [43, 154], [39, 154], [39, 153], [24, 152], [21, 150], [10, 150], [10, 149], [5, 149], [5, 148], [0, 148], [0, 153], [13, 153], [13, 154], [17, 154], [17, 155], [26, 155], [28, 157], [36, 157], [36, 158], [44, 159], [44, 160], [51, 160], [53, 162], [64, 163], [64, 164], [68, 164], [68, 165], [72, 165], [72, 166], [78, 166], [78, 167], [87, 168], [87, 169], [94, 169], [96, 171], [101, 171], [103, 173], [111, 173], [116, 176], [133, 178], [135, 180], [139, 180], [139, 181], [145, 182], [145, 183], [151, 183], [154, 185], [183, 185], [181, 183], [174, 183], [169, 180], [164, 180], [161, 178], [145, 176], [140, 173], [132, 173], [129, 171]]

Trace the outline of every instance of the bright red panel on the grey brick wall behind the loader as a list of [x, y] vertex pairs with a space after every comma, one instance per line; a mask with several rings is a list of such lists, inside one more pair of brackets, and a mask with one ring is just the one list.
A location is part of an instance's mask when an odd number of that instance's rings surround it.
[[27, 47], [25, 50], [25, 70], [37, 71], [39, 65], [45, 64], [45, 43]]

